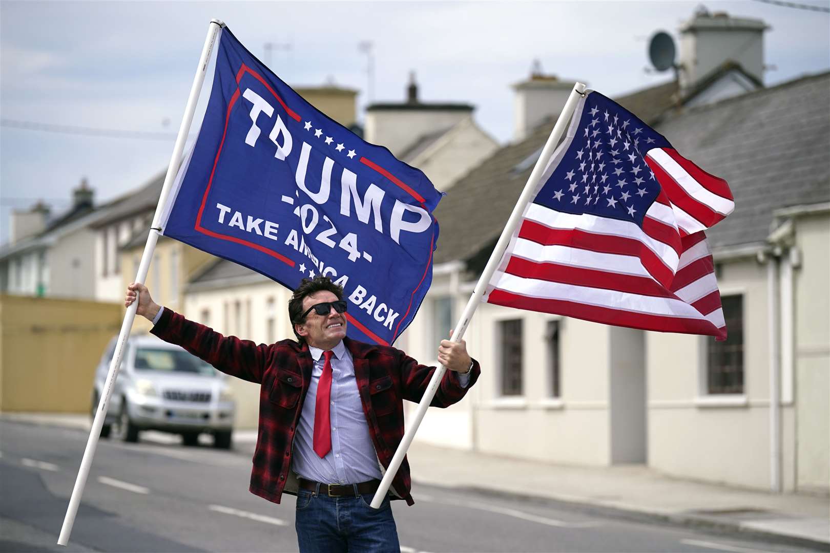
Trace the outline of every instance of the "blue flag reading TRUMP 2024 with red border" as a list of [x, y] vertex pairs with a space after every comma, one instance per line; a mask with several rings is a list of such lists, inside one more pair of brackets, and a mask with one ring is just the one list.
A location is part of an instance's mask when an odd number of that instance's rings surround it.
[[349, 336], [391, 344], [432, 282], [440, 199], [422, 172], [315, 109], [225, 28], [162, 233], [290, 289], [328, 275], [349, 301]]

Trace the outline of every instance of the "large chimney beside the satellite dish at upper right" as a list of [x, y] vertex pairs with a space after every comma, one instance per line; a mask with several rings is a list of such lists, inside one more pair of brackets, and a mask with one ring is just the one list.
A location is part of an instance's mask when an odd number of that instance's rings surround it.
[[680, 85], [688, 90], [728, 62], [735, 62], [764, 82], [764, 31], [760, 19], [710, 13], [699, 7], [680, 27]]

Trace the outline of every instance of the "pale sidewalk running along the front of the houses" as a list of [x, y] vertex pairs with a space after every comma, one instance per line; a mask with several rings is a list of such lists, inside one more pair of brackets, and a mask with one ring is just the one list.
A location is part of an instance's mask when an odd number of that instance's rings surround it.
[[[2, 420], [89, 429], [88, 415], [0, 414]], [[237, 444], [256, 431], [237, 431]], [[408, 453], [416, 483], [473, 488], [574, 503], [623, 516], [784, 538], [830, 551], [830, 498], [774, 495], [669, 478], [642, 465], [554, 465], [415, 442]], [[415, 495], [417, 501], [417, 493]]]

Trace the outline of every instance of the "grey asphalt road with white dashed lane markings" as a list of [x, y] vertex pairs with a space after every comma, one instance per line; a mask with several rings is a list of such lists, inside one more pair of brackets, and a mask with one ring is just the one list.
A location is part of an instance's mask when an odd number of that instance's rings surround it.
[[[70, 546], [56, 546], [86, 438], [0, 422], [0, 551], [296, 551], [294, 497], [247, 491], [251, 444], [186, 448], [158, 433], [100, 440]], [[810, 551], [472, 490], [416, 484], [413, 497], [393, 502], [407, 552]]]

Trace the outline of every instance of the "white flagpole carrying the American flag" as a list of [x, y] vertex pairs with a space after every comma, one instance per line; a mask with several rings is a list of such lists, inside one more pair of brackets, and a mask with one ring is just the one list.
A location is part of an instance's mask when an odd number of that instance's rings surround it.
[[[496, 272], [496, 268], [501, 262], [501, 256], [504, 255], [507, 245], [510, 243], [510, 237], [513, 235], [515, 227], [519, 225], [522, 215], [525, 213], [525, 206], [527, 206], [530, 200], [533, 199], [536, 185], [539, 184], [542, 173], [544, 172], [544, 167], [550, 157], [554, 154], [554, 150], [556, 149], [557, 144], [559, 144], [559, 139], [562, 138], [562, 135], [568, 126], [570, 117], [574, 114], [574, 109], [576, 109], [579, 97], [582, 96], [584, 92], [585, 85], [582, 83], [576, 83], [574, 85], [574, 90], [571, 90], [568, 101], [565, 102], [562, 113], [559, 114], [559, 119], [554, 125], [554, 130], [551, 131], [550, 136], [548, 137], [548, 142], [544, 144], [542, 153], [540, 153], [539, 159], [536, 160], [536, 165], [533, 167], [533, 171], [530, 172], [530, 177], [527, 179], [525, 189], [522, 191], [521, 196], [519, 196], [519, 200], [516, 202], [513, 212], [510, 213], [510, 218], [507, 220], [505, 229], [501, 231], [499, 241], [496, 242], [496, 248], [490, 255], [490, 260], [487, 261], [484, 272], [481, 273], [481, 277], [478, 279], [476, 289], [470, 296], [470, 300], [467, 302], [464, 312], [461, 313], [461, 318], [458, 319], [456, 327], [453, 329], [452, 337], [450, 337], [452, 342], [460, 342], [461, 337], [464, 336], [466, 327], [470, 324], [470, 319], [472, 318], [473, 313], [476, 312], [478, 304], [481, 302], [481, 297], [484, 295], [487, 284], [490, 282], [493, 273]], [[383, 480], [380, 481], [378, 491], [374, 493], [372, 507], [375, 509], [380, 508], [383, 498], [386, 497], [389, 486], [392, 485], [392, 479], [394, 478], [395, 473], [398, 473], [398, 468], [400, 468], [401, 463], [403, 462], [403, 457], [407, 454], [409, 446], [413, 443], [413, 438], [415, 437], [417, 428], [421, 424], [423, 416], [427, 413], [427, 407], [429, 407], [429, 404], [432, 403], [432, 397], [435, 396], [435, 392], [438, 390], [438, 386], [441, 384], [441, 379], [446, 371], [447, 367], [442, 365], [439, 366], [432, 374], [432, 380], [429, 381], [429, 386], [427, 386], [427, 390], [424, 392], [421, 402], [417, 405], [417, 410], [415, 411], [415, 415], [409, 429], [403, 434], [401, 444], [398, 445], [398, 450], [395, 452], [392, 461], [389, 463], [389, 467], [383, 474]]]

